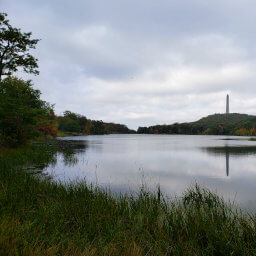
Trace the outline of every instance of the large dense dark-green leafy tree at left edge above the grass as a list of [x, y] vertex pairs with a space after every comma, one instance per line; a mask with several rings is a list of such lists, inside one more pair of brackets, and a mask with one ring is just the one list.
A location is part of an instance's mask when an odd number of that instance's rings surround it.
[[30, 81], [8, 77], [0, 81], [0, 141], [7, 146], [25, 144], [39, 135], [39, 121], [53, 112], [40, 99]]

